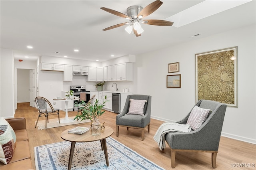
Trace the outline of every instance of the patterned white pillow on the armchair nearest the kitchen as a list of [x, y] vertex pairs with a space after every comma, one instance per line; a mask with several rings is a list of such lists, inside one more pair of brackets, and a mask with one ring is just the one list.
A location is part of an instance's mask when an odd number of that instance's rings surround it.
[[127, 115], [142, 115], [144, 116], [144, 106], [145, 106], [146, 100], [134, 100], [130, 99], [130, 108]]

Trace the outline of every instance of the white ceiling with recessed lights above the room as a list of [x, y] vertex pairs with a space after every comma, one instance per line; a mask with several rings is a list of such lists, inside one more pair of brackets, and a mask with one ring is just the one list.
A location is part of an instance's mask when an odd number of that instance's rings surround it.
[[[162, 0], [162, 6], [145, 19], [164, 20], [202, 1]], [[110, 55], [138, 55], [256, 22], [256, 3], [253, 0], [179, 28], [142, 24], [144, 32], [140, 37], [128, 34], [124, 30], [126, 26], [102, 31], [127, 20], [100, 7], [126, 14], [129, 6], [145, 7], [152, 2], [154, 0], [1, 0], [1, 48], [13, 49], [14, 59], [66, 55], [74, 59], [106, 61], [113, 58]], [[196, 34], [202, 35], [189, 38]], [[34, 48], [27, 49], [27, 45]], [[75, 48], [80, 51], [74, 52]], [[55, 51], [60, 53], [55, 54]]]

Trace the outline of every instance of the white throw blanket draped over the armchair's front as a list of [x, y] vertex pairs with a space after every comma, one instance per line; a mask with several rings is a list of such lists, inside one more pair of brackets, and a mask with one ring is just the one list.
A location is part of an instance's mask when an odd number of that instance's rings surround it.
[[154, 136], [154, 140], [158, 143], [160, 150], [165, 148], [165, 134], [169, 132], [190, 132], [191, 128], [189, 124], [179, 124], [173, 122], [163, 123]]

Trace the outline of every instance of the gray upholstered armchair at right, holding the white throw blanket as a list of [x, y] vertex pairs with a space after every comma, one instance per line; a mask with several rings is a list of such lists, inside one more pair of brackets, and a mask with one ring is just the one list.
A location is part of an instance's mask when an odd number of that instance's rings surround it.
[[[196, 106], [212, 111], [201, 127], [190, 132], [168, 133], [165, 136], [165, 140], [171, 148], [172, 168], [175, 167], [176, 151], [210, 152], [212, 153], [212, 167], [216, 168], [220, 134], [227, 106], [209, 100], [200, 100]], [[190, 113], [177, 123], [186, 124]]]

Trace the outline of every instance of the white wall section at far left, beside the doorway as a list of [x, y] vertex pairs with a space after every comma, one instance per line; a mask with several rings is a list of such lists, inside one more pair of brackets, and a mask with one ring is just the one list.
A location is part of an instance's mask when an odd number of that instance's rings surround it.
[[1, 113], [4, 118], [14, 117], [14, 61], [12, 50], [1, 48]]

